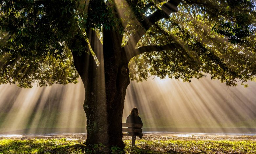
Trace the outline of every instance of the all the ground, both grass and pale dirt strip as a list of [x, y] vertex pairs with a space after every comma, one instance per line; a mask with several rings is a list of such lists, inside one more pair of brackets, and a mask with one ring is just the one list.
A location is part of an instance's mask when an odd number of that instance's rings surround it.
[[[124, 136], [125, 153], [256, 153], [256, 136], [224, 134], [145, 133], [131, 147], [131, 137]], [[0, 135], [0, 153], [99, 153], [103, 145], [82, 150], [84, 133], [52, 135]], [[120, 153], [117, 147], [112, 153]]]

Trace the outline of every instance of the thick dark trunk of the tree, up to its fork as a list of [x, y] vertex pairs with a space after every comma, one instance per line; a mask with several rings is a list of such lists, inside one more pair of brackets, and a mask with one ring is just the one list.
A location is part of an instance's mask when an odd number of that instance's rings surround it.
[[[103, 30], [103, 51], [100, 65], [92, 54], [72, 52], [75, 68], [85, 88], [84, 111], [87, 118], [86, 144], [102, 143], [108, 147], [124, 147], [122, 114], [126, 89], [130, 83], [126, 56], [121, 54], [121, 35]], [[80, 36], [83, 45], [87, 43]], [[75, 48], [76, 40], [72, 42]]]

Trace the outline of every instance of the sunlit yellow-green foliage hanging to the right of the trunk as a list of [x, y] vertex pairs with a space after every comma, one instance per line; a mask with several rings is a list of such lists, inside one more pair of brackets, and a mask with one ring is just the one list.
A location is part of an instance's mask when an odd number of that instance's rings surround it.
[[190, 82], [192, 77], [211, 74], [228, 86], [253, 80], [256, 13], [251, 9], [255, 4], [244, 3], [183, 2], [178, 12], [158, 21], [138, 43], [140, 47], [178, 42], [182, 48], [134, 57], [129, 65], [131, 78], [142, 81], [157, 75]]

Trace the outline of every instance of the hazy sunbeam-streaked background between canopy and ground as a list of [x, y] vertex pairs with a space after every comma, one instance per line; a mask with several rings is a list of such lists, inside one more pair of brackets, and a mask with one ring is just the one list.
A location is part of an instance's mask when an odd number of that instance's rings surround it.
[[[191, 83], [149, 78], [127, 88], [123, 122], [138, 107], [144, 131], [256, 132], [256, 83], [227, 87], [218, 80]], [[78, 84], [32, 89], [0, 86], [0, 133], [85, 132], [84, 87]]]

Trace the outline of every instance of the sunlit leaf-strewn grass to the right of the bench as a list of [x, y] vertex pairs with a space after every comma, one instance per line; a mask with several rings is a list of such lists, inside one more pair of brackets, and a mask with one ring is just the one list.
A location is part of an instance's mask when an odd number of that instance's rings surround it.
[[[125, 141], [129, 144], [129, 141]], [[136, 142], [141, 153], [237, 153], [255, 154], [256, 141], [146, 141]]]

